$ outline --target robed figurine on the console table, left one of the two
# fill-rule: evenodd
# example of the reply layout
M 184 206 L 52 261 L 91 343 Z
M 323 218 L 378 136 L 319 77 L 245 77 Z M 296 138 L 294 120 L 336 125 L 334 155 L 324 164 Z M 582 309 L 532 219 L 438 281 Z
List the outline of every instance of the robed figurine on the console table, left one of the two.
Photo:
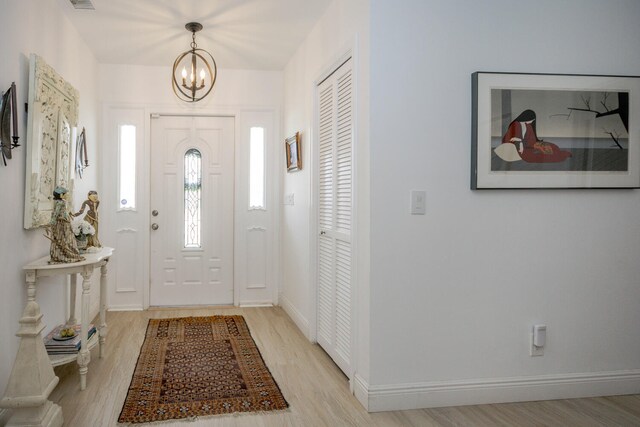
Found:
M 80 256 L 76 237 L 71 229 L 71 216 L 67 210 L 68 191 L 64 187 L 53 190 L 53 211 L 51 221 L 47 225 L 45 236 L 51 240 L 49 264 L 71 263 L 83 261 Z

